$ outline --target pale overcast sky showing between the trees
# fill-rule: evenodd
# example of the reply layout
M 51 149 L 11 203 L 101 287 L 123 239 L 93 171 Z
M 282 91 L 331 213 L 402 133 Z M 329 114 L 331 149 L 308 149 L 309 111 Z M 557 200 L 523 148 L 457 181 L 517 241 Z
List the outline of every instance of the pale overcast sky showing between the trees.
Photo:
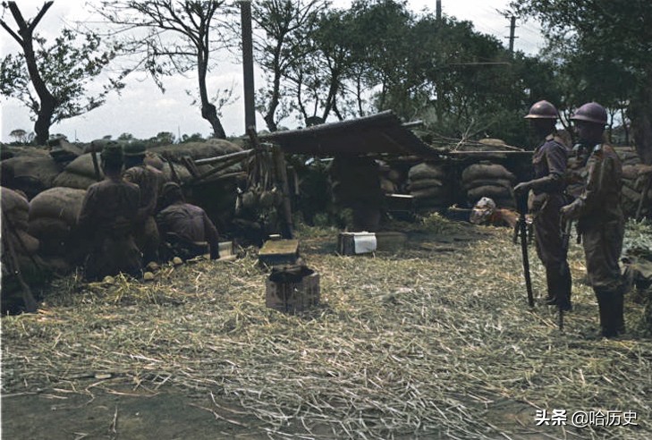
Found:
M 92 0 L 91 0 L 92 1 Z M 255 0 L 254 0 L 255 1 Z M 43 1 L 21 0 L 18 2 L 23 16 L 31 18 L 36 15 Z M 38 26 L 40 33 L 52 39 L 56 32 L 64 25 L 72 26 L 74 21 L 89 20 L 88 9 L 82 0 L 56 0 L 55 4 L 46 13 Z M 336 0 L 334 5 L 345 7 L 351 4 L 347 0 Z M 442 0 L 442 11 L 445 15 L 453 16 L 458 20 L 472 21 L 476 30 L 494 35 L 504 41 L 507 46 L 509 36 L 509 21 L 496 10 L 507 9 L 509 0 Z M 436 0 L 409 0 L 408 6 L 414 12 L 424 8 L 435 11 Z M 5 14 L 4 20 L 13 24 L 12 17 Z M 517 21 L 514 47 L 526 54 L 536 54 L 542 46 L 543 39 L 538 32 L 536 23 Z M 17 52 L 18 43 L 9 37 L 6 31 L 0 29 L 0 55 Z M 244 132 L 244 107 L 242 104 L 242 68 L 233 63 L 220 63 L 219 72 L 209 73 L 207 87 L 209 96 L 211 90 L 230 88 L 233 85 L 238 101 L 232 106 L 223 109 L 222 124 L 226 134 L 240 135 Z M 160 131 L 171 131 L 174 135 L 192 134 L 199 132 L 203 136 L 211 133 L 210 125 L 201 118 L 199 107 L 191 106 L 192 98 L 186 90 L 197 89 L 197 80 L 194 76 L 183 78 L 177 76 L 165 79 L 165 94 L 155 86 L 154 82 L 142 73 L 131 75 L 126 81 L 127 86 L 118 96 L 112 93 L 106 99 L 106 104 L 88 114 L 64 120 L 51 127 L 50 133 L 63 133 L 69 140 L 90 140 L 101 138 L 107 134 L 114 138 L 121 133 L 128 132 L 136 138 L 148 139 L 156 136 Z M 256 88 L 260 84 L 256 85 Z M 34 123 L 30 121 L 27 109 L 14 99 L 0 97 L 0 126 L 2 127 L 1 140 L 13 140 L 9 133 L 15 129 L 33 131 Z M 265 128 L 265 123 L 260 115 L 258 130 Z M 290 125 L 291 121 L 283 123 Z

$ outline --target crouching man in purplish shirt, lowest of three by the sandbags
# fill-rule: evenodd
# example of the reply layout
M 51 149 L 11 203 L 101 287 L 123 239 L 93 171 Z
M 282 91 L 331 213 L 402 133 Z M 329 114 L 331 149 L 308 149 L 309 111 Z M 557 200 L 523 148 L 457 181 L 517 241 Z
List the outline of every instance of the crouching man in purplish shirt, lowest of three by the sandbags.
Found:
M 157 215 L 157 225 L 164 241 L 165 258 L 187 259 L 206 253 L 210 253 L 211 259 L 220 258 L 215 224 L 201 207 L 185 202 L 177 183 L 165 183 L 161 191 L 161 206 L 163 209 Z

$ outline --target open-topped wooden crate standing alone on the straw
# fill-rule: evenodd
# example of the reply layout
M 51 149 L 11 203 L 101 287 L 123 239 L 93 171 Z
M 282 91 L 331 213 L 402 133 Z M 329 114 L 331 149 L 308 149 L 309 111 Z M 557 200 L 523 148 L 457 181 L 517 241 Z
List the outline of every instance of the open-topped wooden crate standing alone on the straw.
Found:
M 300 283 L 275 283 L 267 277 L 266 300 L 268 308 L 294 313 L 319 303 L 319 274 L 304 276 Z

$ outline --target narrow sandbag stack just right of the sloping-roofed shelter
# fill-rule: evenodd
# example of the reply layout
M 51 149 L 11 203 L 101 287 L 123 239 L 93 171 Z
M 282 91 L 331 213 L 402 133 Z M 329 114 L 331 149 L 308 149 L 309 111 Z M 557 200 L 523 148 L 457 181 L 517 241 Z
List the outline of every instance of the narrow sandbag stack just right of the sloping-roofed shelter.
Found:
M 418 214 L 443 212 L 451 205 L 451 186 L 446 165 L 414 165 L 408 172 L 408 186 Z

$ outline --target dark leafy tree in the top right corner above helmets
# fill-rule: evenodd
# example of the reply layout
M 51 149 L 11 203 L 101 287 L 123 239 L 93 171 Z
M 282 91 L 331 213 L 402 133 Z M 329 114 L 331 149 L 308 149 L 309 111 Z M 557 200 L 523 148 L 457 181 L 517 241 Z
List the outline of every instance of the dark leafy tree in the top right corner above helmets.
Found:
M 574 75 L 576 106 L 626 107 L 639 157 L 652 164 L 652 9 L 645 0 L 524 0 L 541 21 L 548 54 Z

